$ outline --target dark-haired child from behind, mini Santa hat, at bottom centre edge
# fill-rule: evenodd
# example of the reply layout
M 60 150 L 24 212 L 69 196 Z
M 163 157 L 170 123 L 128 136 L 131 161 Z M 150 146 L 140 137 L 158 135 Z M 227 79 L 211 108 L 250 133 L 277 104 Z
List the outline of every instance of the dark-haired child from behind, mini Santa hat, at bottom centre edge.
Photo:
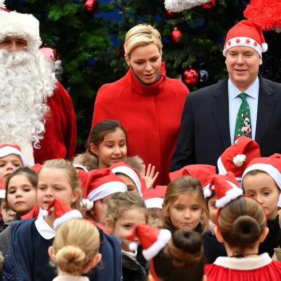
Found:
M 139 239 L 142 254 L 150 261 L 149 281 L 206 281 L 200 234 L 183 229 L 171 234 L 167 229 L 137 225 L 127 237 L 132 241 L 131 248 L 135 246 L 133 241 Z

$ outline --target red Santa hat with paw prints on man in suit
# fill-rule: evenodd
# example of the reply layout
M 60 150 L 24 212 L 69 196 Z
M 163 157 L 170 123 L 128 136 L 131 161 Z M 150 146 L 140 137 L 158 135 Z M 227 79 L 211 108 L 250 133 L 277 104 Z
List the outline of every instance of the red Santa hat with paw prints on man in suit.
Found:
M 246 46 L 255 49 L 260 57 L 267 51 L 267 44 L 262 32 L 262 26 L 251 20 L 241 20 L 226 35 L 223 55 L 226 57 L 228 49 Z

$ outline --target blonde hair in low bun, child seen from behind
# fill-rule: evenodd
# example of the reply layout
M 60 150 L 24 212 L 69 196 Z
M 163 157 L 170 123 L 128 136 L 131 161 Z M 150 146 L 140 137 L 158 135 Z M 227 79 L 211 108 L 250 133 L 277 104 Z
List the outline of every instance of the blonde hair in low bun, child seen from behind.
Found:
M 57 230 L 53 241 L 56 264 L 64 272 L 81 274 L 99 250 L 99 232 L 85 219 L 71 219 Z

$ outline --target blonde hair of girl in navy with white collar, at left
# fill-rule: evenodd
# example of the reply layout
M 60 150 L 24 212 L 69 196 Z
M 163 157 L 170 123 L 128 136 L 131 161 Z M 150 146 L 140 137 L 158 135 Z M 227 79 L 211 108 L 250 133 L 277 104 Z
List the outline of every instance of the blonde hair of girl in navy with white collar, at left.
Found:
M 75 202 L 71 203 L 71 207 L 73 209 L 79 210 L 82 214 L 84 214 L 83 209 L 81 208 L 80 202 L 82 201 L 82 189 L 80 186 L 80 179 L 76 169 L 73 167 L 71 162 L 64 159 L 52 159 L 47 160 L 44 165 L 41 167 L 40 171 L 38 172 L 38 178 L 40 176 L 40 172 L 47 169 L 59 169 L 62 170 L 65 174 L 67 174 L 69 178 L 69 184 L 71 186 L 72 191 L 78 190 L 79 195 Z

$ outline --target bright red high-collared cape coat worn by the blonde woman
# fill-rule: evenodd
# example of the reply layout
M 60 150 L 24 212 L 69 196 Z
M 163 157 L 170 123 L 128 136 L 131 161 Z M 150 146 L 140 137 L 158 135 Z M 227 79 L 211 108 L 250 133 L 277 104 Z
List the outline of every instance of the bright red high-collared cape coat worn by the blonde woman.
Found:
M 180 80 L 166 77 L 164 62 L 159 79 L 149 86 L 130 68 L 125 77 L 99 89 L 92 128 L 106 119 L 120 122 L 128 136 L 127 155 L 139 155 L 146 165 L 155 165 L 159 172 L 155 185 L 167 185 L 188 93 Z

